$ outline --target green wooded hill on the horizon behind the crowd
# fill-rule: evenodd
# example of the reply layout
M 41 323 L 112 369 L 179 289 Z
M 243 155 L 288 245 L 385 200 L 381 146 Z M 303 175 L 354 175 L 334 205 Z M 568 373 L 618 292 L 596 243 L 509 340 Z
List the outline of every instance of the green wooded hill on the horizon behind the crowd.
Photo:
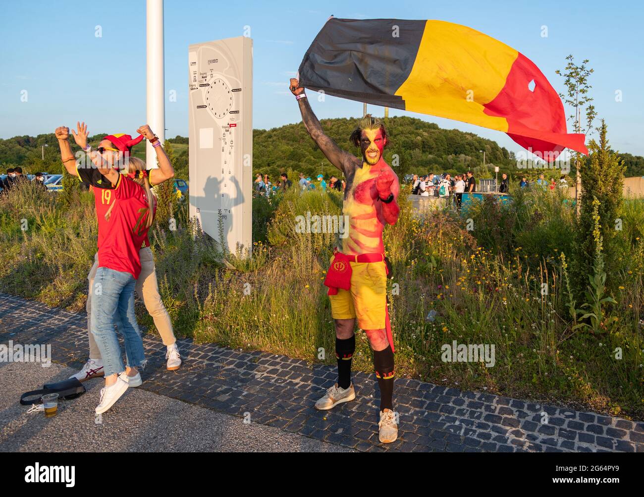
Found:
M 333 138 L 343 149 L 355 153 L 358 150 L 350 144 L 348 138 L 359 123 L 358 118 L 323 119 L 322 127 L 328 136 Z M 526 173 L 526 170 L 516 169 L 513 153 L 497 142 L 481 138 L 474 133 L 464 133 L 457 129 L 441 129 L 437 124 L 426 122 L 413 117 L 390 117 L 385 122 L 390 142 L 385 149 L 385 160 L 396 164 L 396 173 L 400 178 L 404 174 L 462 173 L 468 169 L 478 173 L 478 177 L 491 177 L 493 167 L 498 165 L 500 171 L 512 176 Z M 107 133 L 99 133 L 90 137 L 90 143 L 98 144 L 100 138 Z M 188 179 L 188 139 L 176 136 L 168 140 L 173 144 L 175 155 L 176 176 Z M 44 147 L 44 161 L 41 158 Z M 483 169 L 483 154 L 486 151 L 486 167 Z M 134 149 L 134 154 L 145 157 L 144 144 Z M 626 165 L 625 176 L 644 175 L 644 157 L 621 154 Z M 57 173 L 61 167 L 57 140 L 53 133 L 38 136 L 14 136 L 0 140 L 0 167 L 21 165 L 30 173 L 48 171 Z M 287 171 L 289 178 L 297 178 L 299 172 L 314 178 L 324 174 L 328 178 L 337 175 L 337 169 L 324 157 L 322 152 L 308 136 L 304 125 L 287 124 L 272 129 L 253 130 L 253 172 L 269 174 L 276 182 L 279 173 Z

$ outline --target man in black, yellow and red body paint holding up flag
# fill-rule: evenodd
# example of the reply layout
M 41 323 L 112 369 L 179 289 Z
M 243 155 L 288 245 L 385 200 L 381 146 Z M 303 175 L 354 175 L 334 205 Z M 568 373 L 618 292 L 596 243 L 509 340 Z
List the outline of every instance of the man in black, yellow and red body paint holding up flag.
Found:
M 348 234 L 339 238 L 325 279 L 336 328 L 337 383 L 316 402 L 317 409 L 355 399 L 351 359 L 355 350 L 355 321 L 365 330 L 374 351 L 375 376 L 380 388 L 379 438 L 384 444 L 398 436 L 393 412 L 393 338 L 387 311 L 387 274 L 383 228 L 398 220 L 398 178 L 384 162 L 388 136 L 381 120 L 367 115 L 350 140 L 361 158 L 341 150 L 324 134 L 298 80 L 290 80 L 308 134 L 329 162 L 345 175 L 342 212 L 348 216 Z

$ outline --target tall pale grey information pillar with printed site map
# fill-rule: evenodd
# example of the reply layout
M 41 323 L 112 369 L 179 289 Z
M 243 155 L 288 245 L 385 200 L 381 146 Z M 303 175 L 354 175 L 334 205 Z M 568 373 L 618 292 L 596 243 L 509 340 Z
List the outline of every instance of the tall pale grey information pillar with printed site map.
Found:
M 227 250 L 250 255 L 252 40 L 190 45 L 188 76 L 190 216 Z

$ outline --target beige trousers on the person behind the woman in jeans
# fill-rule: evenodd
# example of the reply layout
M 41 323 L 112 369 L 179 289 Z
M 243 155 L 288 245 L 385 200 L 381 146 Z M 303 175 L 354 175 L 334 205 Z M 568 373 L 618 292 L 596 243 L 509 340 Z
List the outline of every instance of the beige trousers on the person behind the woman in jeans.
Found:
M 159 286 L 156 281 L 155 259 L 152 256 L 152 250 L 149 247 L 141 249 L 138 252 L 141 259 L 141 274 L 137 279 L 137 294 L 143 299 L 147 312 L 155 321 L 156 329 L 161 335 L 164 345 L 172 345 L 176 342 L 175 333 L 172 330 L 172 322 L 167 314 L 166 306 L 161 301 L 159 295 Z M 100 359 L 99 347 L 91 333 L 91 288 L 94 286 L 94 276 L 99 268 L 99 254 L 94 256 L 94 265 L 91 267 L 87 279 L 90 280 L 90 291 L 87 293 L 87 330 L 90 335 L 90 359 Z

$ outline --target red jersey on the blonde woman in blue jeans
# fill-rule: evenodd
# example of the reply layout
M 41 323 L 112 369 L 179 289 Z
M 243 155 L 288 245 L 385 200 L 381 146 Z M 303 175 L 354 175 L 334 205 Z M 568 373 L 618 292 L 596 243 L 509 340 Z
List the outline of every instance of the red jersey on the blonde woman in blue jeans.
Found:
M 116 203 L 109 221 L 99 214 L 99 267 L 128 272 L 137 279 L 141 272 L 138 251 L 147 239 L 146 223 L 150 215 L 146 191 L 122 174 L 118 175 L 113 189 L 102 191 L 110 192 L 114 196 L 112 202 Z M 99 196 L 100 190 L 96 195 L 97 205 Z

